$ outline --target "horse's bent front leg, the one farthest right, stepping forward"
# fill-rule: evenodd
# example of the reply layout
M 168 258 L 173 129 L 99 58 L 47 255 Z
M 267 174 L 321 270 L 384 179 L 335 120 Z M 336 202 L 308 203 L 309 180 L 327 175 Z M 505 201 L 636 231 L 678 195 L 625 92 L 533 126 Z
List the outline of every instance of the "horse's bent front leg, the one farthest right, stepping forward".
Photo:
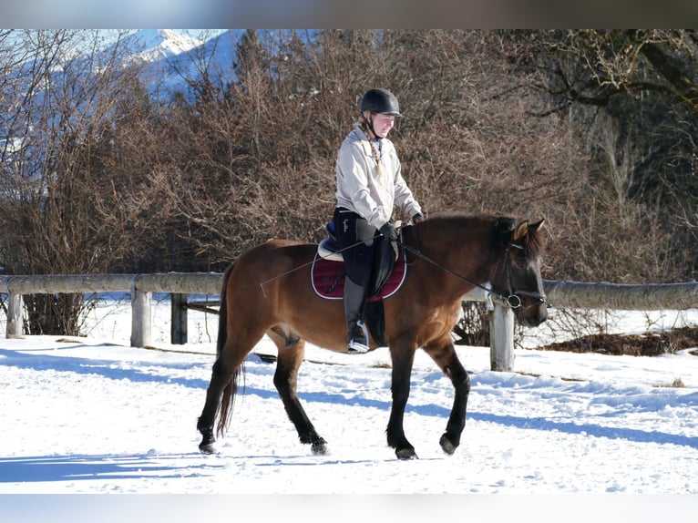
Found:
M 460 436 L 466 427 L 467 396 L 470 394 L 470 378 L 466 369 L 458 360 L 450 333 L 447 338 L 428 344 L 424 350 L 436 362 L 453 384 L 455 397 L 451 415 L 448 416 L 446 432 L 441 436 L 439 444 L 444 452 L 453 454 L 460 445 Z

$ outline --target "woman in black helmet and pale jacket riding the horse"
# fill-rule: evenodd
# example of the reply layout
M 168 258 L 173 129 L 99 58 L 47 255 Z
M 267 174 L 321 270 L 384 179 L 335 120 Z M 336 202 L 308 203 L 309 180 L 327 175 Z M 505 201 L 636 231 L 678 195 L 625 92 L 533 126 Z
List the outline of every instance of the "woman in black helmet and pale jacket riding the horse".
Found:
M 353 354 L 369 348 L 364 301 L 378 232 L 386 240 L 397 240 L 390 221 L 395 206 L 415 223 L 424 219 L 402 176 L 393 142 L 386 138 L 395 118 L 402 117 L 397 98 L 386 89 L 370 89 L 361 99 L 360 110 L 337 155 L 333 217 L 337 241 L 344 249 L 344 319 L 347 350 Z

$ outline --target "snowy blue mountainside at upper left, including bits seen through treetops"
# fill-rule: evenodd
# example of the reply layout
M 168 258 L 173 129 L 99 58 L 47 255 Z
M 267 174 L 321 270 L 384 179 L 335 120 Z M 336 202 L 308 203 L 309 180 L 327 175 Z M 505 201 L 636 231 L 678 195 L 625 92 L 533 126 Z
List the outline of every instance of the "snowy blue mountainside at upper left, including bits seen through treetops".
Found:
M 76 83 L 77 78 L 83 77 L 84 85 L 80 88 L 89 88 L 98 79 L 100 71 L 104 71 L 106 67 L 113 67 L 114 56 L 121 56 L 119 59 L 124 63 L 138 61 L 143 66 L 141 81 L 154 100 L 167 102 L 175 96 L 183 95 L 191 103 L 199 95 L 196 88 L 201 85 L 200 79 L 204 75 L 207 83 L 221 90 L 225 89 L 236 81 L 234 65 L 237 61 L 237 47 L 245 32 L 244 29 L 222 32 L 172 29 L 126 32 L 104 30 L 103 41 L 108 42 L 108 45 L 100 46 L 101 50 L 97 56 L 94 54 L 95 47 L 91 45 L 93 41 L 86 35 L 87 45 L 83 48 L 85 54 L 82 54 L 79 47 L 61 49 L 65 56 L 56 60 L 51 67 L 50 78 L 46 77 L 40 84 L 34 82 L 36 71 L 42 67 L 41 58 L 35 61 L 32 56 L 26 61 L 20 60 L 18 67 L 8 73 L 10 77 L 15 77 L 15 80 L 7 85 L 12 85 L 12 97 L 16 99 L 22 99 L 19 93 L 31 89 L 33 103 L 17 104 L 19 109 L 13 118 L 0 118 L 0 149 L 10 152 L 21 149 L 24 143 L 23 129 L 26 129 L 23 118 L 43 118 L 38 112 L 29 109 L 43 105 L 48 94 L 46 87 L 50 86 L 54 94 L 66 88 L 67 93 L 72 92 L 75 95 L 66 100 L 69 102 L 67 107 L 77 104 L 80 106 L 77 107 L 77 112 L 87 114 L 87 111 L 91 110 L 89 97 L 82 99 L 79 92 L 72 87 L 67 88 L 67 82 Z M 307 32 L 304 32 L 302 37 L 305 36 Z M 283 37 L 281 32 L 261 32 L 260 42 L 269 46 L 273 52 L 274 47 L 279 45 L 279 39 Z M 77 41 L 79 43 L 79 38 Z M 100 54 L 103 54 L 103 59 Z M 26 114 L 24 108 L 27 109 Z M 56 115 L 56 118 L 63 118 L 63 115 Z

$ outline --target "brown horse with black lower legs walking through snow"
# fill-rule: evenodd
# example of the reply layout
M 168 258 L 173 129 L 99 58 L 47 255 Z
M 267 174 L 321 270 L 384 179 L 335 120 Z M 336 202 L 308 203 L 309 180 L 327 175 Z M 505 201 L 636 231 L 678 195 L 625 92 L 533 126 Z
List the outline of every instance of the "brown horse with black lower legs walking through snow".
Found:
M 540 275 L 543 221 L 444 212 L 403 228 L 399 242 L 409 254 L 408 270 L 400 288 L 381 302 L 383 341 L 392 363 L 392 405 L 385 432 L 387 445 L 399 459 L 417 457 L 405 436 L 403 417 L 419 348 L 454 388 L 439 444 L 447 455 L 460 445 L 470 380 L 451 333 L 467 292 L 487 289 L 492 299 L 511 307 L 525 327 L 547 319 Z M 265 334 L 278 349 L 273 384 L 301 443 L 309 444 L 313 455 L 328 453 L 327 442 L 305 414 L 296 392 L 306 342 L 335 352 L 347 350 L 342 301 L 329 301 L 313 291 L 310 266 L 317 247 L 301 241 L 266 241 L 243 252 L 223 273 L 217 355 L 197 422 L 202 453 L 217 452 L 216 436 L 224 436 L 229 428 L 244 359 Z M 370 334 L 370 350 L 377 346 Z

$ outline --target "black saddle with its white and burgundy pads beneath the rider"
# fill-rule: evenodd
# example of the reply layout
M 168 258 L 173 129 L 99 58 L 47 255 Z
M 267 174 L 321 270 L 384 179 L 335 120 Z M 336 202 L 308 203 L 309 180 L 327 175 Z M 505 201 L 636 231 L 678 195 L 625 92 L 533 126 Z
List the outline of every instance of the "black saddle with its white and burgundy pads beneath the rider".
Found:
M 334 236 L 334 223 L 326 226 L 328 237 L 317 247 L 311 268 L 313 289 L 328 300 L 344 297 L 344 258 Z M 390 241 L 376 239 L 374 272 L 368 285 L 366 302 L 378 302 L 392 296 L 405 281 L 405 251 L 398 242 L 397 256 Z

